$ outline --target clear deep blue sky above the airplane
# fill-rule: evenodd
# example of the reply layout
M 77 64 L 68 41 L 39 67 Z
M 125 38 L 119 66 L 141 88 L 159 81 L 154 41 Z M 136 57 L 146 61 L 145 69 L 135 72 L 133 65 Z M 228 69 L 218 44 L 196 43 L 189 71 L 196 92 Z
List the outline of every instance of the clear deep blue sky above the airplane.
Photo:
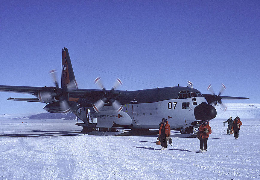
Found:
M 0 85 L 54 86 L 48 72 L 61 79 L 63 47 L 79 88 L 98 88 L 97 76 L 107 89 L 119 77 L 118 90 L 189 80 L 203 94 L 223 83 L 223 95 L 250 98 L 225 103 L 260 103 L 257 0 L 1 1 Z M 9 97 L 34 98 L 0 92 L 0 114 L 45 112 Z

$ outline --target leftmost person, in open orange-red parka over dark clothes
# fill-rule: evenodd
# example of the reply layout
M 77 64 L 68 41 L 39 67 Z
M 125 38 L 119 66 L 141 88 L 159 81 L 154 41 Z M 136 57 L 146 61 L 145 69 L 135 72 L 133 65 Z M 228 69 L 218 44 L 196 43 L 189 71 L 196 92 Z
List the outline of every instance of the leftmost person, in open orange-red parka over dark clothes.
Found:
M 170 135 L 171 135 L 170 125 L 168 124 L 167 119 L 164 119 L 159 129 L 159 137 L 161 138 L 161 146 L 162 146 L 161 150 L 167 150 L 166 137 L 170 138 Z

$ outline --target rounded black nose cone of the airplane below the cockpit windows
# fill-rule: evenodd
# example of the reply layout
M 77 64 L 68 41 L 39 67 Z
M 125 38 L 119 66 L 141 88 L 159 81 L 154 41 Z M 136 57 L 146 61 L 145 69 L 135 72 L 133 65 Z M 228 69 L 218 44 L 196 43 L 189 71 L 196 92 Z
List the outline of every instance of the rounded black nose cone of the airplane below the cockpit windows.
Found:
M 209 121 L 217 116 L 217 111 L 212 105 L 201 103 L 194 108 L 194 116 L 197 121 Z

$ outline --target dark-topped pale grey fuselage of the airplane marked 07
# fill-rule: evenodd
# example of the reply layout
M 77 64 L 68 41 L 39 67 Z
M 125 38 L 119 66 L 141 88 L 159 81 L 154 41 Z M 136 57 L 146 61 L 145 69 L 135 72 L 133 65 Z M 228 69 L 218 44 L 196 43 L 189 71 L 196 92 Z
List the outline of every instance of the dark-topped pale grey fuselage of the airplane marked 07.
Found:
M 215 108 L 207 104 L 200 91 L 194 88 L 166 87 L 116 92 L 120 94 L 117 100 L 123 105 L 120 113 L 117 114 L 110 103 L 97 113 L 91 104 L 84 104 L 86 101 L 81 99 L 77 101 L 80 108 L 74 114 L 92 127 L 119 128 L 121 125 L 132 129 L 158 129 L 162 118 L 168 120 L 172 129 L 178 129 L 192 126 L 193 122 L 211 120 L 216 116 Z M 200 104 L 205 104 L 210 111 L 214 109 L 213 112 L 205 110 L 209 115 L 206 119 L 194 114 L 194 109 Z

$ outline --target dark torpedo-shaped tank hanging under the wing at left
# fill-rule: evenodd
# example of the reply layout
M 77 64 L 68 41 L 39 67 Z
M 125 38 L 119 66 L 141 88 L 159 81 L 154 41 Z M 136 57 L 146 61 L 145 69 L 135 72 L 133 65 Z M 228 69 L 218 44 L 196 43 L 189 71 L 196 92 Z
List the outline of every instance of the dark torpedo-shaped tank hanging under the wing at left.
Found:
M 80 107 L 80 105 L 74 101 L 68 101 L 68 104 L 71 108 L 71 110 L 68 113 L 77 111 L 78 108 Z M 60 107 L 60 103 L 47 104 L 43 109 L 48 111 L 49 113 L 63 113 L 63 110 Z

